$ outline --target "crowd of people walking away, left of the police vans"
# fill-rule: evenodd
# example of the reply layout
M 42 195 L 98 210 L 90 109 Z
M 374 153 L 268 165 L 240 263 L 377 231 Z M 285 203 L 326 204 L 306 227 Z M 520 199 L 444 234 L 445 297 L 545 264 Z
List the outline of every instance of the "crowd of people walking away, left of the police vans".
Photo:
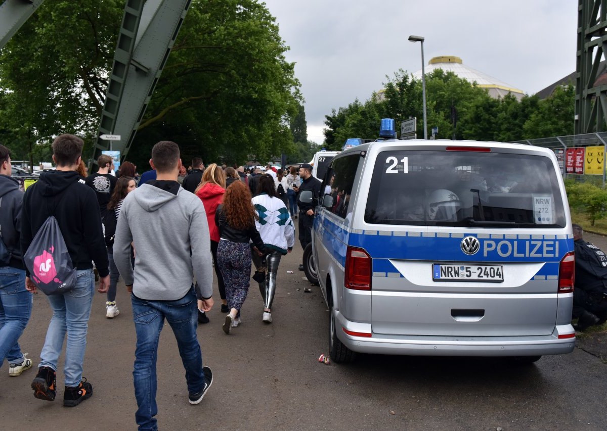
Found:
M 10 151 L 0 145 L 0 365 L 7 359 L 10 376 L 33 367 L 18 340 L 32 312 L 32 294 L 39 290 L 39 273 L 30 271 L 24 256 L 49 219 L 54 220 L 70 261 L 57 273 L 72 270 L 75 282 L 47 295 L 53 314 L 31 384 L 34 396 L 55 399 L 66 335 L 63 405 L 77 406 L 92 396 L 83 362 L 95 280 L 98 292 L 107 295 L 106 317 L 113 319 L 120 315 L 116 296 L 121 277 L 131 294 L 137 335 L 135 420 L 139 429 L 157 429 L 157 340 L 164 321 L 177 340 L 189 403 L 200 403 L 212 384 L 196 327 L 209 322 L 213 272 L 221 312 L 226 313 L 223 332 L 231 333 L 242 322 L 253 264 L 260 318 L 265 324 L 273 321 L 280 258 L 295 242 L 299 176 L 295 169 L 285 175 L 270 165 L 265 172 L 258 168 L 251 173 L 217 164 L 205 168 L 200 158 L 192 159 L 186 170 L 171 141 L 154 145 L 152 169 L 140 177 L 131 162 L 116 172 L 106 155 L 97 159 L 98 172 L 87 175 L 82 139 L 61 135 L 52 149 L 56 169 L 42 172 L 23 193 L 10 176 Z M 53 249 L 35 261 L 40 271 L 54 271 L 63 262 Z M 40 261 L 42 256 L 50 258 Z

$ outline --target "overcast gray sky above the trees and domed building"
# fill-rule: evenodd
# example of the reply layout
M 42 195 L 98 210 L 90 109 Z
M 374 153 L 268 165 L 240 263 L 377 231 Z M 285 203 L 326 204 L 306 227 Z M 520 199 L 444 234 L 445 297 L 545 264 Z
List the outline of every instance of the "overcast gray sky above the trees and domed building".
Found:
M 365 101 L 399 68 L 455 55 L 532 95 L 575 71 L 575 0 L 265 0 L 291 47 L 302 84 L 308 139 L 324 140 L 324 116 Z M 379 124 L 378 124 L 379 127 Z

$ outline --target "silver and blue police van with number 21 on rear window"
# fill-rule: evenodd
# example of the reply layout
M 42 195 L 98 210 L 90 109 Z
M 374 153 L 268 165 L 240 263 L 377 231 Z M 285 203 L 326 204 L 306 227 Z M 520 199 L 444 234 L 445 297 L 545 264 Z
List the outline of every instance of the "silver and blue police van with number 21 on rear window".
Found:
M 333 361 L 572 352 L 573 235 L 551 150 L 386 139 L 334 156 L 325 185 L 312 253 Z

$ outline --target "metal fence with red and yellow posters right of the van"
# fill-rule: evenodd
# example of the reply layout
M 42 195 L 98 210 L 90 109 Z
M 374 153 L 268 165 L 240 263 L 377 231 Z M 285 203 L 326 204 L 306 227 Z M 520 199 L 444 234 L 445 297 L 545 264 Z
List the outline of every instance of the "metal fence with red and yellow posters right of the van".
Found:
M 593 182 L 605 186 L 607 132 L 524 139 L 514 141 L 514 143 L 549 148 L 557 156 L 564 178 L 574 178 L 576 181 Z

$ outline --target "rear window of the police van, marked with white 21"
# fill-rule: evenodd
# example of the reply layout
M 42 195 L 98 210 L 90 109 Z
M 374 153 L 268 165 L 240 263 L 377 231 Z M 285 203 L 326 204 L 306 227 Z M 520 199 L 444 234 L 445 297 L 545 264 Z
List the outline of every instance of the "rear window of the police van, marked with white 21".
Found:
M 375 162 L 365 222 L 565 227 L 565 209 L 548 157 L 385 151 Z

